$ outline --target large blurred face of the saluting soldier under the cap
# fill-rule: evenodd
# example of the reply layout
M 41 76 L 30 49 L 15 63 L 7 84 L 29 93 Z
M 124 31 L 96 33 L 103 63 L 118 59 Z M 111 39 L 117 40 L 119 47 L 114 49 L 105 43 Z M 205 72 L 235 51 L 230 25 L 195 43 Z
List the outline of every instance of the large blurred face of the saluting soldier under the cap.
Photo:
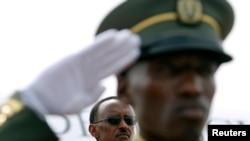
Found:
M 119 78 L 118 93 L 133 105 L 143 137 L 193 141 L 209 114 L 217 67 L 194 53 L 154 57 Z

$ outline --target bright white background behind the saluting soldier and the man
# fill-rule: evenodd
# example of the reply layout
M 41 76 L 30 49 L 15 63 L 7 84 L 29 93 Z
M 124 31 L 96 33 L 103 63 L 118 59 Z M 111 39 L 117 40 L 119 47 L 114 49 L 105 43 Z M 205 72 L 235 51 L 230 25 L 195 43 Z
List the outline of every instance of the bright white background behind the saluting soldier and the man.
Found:
M 102 18 L 123 1 L 0 0 L 0 103 L 50 65 L 91 43 Z M 208 122 L 250 124 L 250 1 L 229 2 L 236 19 L 224 47 L 234 60 L 216 75 L 218 88 Z M 103 85 L 106 91 L 100 98 L 115 95 L 114 76 Z M 88 133 L 88 112 L 86 108 L 79 115 L 46 119 L 62 141 L 94 141 Z

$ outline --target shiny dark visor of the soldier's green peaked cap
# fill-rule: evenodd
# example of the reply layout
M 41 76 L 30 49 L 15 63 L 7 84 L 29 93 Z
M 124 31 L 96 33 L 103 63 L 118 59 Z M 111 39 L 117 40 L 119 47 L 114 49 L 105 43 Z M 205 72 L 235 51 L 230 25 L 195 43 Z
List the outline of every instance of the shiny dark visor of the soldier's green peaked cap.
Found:
M 190 35 L 162 38 L 145 43 L 141 47 L 140 59 L 160 54 L 183 51 L 199 51 L 208 54 L 218 63 L 224 63 L 232 60 L 232 57 L 223 51 L 220 41 Z

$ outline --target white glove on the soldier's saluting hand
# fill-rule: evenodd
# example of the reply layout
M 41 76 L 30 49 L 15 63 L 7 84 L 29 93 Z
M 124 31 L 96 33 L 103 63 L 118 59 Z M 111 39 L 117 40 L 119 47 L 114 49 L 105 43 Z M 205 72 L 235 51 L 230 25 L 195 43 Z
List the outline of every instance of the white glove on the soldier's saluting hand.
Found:
M 140 38 L 129 30 L 108 30 L 86 49 L 43 72 L 21 91 L 39 114 L 76 114 L 104 91 L 100 80 L 120 72 L 139 56 Z

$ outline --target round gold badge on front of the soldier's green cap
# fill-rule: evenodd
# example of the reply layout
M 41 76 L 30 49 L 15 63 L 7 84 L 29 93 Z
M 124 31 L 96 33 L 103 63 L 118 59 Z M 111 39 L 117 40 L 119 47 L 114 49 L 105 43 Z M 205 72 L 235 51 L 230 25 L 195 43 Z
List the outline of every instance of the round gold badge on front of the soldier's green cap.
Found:
M 177 13 L 181 22 L 186 24 L 198 23 L 202 18 L 200 0 L 178 0 Z

